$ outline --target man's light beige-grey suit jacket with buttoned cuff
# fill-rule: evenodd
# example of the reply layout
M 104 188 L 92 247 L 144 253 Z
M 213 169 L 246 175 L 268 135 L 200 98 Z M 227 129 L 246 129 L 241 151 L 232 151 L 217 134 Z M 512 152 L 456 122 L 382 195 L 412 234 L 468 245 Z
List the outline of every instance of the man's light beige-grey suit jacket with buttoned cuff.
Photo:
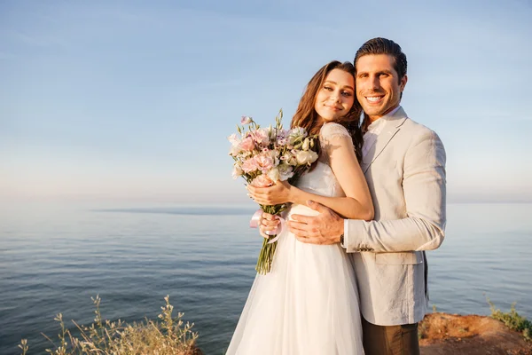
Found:
M 364 319 L 380 326 L 423 319 L 426 255 L 445 229 L 442 140 L 400 107 L 361 164 L 372 193 L 373 221 L 347 220 L 344 246 L 356 269 Z

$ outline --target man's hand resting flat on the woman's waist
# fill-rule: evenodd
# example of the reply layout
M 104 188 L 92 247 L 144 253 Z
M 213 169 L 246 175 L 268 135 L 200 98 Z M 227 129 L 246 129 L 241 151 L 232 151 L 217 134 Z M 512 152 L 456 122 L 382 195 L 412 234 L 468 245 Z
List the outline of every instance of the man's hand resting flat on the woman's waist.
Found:
M 292 215 L 287 225 L 298 241 L 310 244 L 335 244 L 344 232 L 344 219 L 332 209 L 315 201 L 307 201 L 309 208 L 317 210 L 317 216 Z

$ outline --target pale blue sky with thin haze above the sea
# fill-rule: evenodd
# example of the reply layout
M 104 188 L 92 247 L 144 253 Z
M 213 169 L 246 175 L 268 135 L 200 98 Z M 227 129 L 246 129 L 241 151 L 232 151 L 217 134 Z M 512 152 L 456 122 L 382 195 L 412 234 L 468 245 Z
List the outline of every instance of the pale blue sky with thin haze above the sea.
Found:
M 244 203 L 227 137 L 289 124 L 366 40 L 408 58 L 402 106 L 450 202 L 532 201 L 532 3 L 0 1 L 0 201 Z

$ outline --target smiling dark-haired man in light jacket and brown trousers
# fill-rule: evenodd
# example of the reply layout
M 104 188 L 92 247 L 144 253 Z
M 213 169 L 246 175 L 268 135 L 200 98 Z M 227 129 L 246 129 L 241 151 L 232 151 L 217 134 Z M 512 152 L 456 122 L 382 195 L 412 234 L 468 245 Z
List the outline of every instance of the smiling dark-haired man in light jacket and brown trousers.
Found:
M 419 354 L 418 322 L 426 313 L 425 250 L 438 248 L 445 228 L 442 141 L 400 106 L 406 56 L 385 38 L 364 43 L 355 57 L 356 98 L 364 109 L 361 168 L 372 193 L 372 221 L 344 220 L 309 201 L 317 217 L 293 215 L 299 241 L 340 242 L 353 257 L 366 355 Z M 264 215 L 262 231 L 277 221 Z

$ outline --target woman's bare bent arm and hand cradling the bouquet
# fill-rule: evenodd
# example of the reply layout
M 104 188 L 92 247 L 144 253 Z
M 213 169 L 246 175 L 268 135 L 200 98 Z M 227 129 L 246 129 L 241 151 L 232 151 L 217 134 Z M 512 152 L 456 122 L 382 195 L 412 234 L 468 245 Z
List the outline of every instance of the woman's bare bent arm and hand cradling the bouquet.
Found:
M 249 195 L 263 205 L 292 202 L 306 204 L 317 201 L 349 219 L 371 220 L 373 218 L 372 196 L 366 184 L 364 174 L 356 160 L 355 150 L 350 136 L 335 134 L 325 139 L 322 145 L 328 155 L 332 172 L 336 176 L 346 197 L 328 197 L 308 193 L 286 182 L 270 187 L 248 185 Z

